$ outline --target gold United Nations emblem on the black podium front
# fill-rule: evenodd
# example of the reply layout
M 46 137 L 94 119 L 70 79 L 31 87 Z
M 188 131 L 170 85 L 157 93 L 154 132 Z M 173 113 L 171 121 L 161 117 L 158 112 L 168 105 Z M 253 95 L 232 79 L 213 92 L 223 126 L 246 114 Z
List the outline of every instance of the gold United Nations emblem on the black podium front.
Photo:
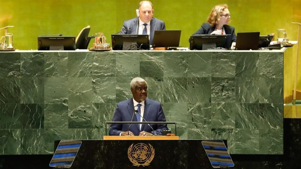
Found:
M 151 164 L 155 157 L 155 149 L 151 144 L 138 143 L 135 146 L 129 146 L 128 157 L 134 166 L 147 166 Z

